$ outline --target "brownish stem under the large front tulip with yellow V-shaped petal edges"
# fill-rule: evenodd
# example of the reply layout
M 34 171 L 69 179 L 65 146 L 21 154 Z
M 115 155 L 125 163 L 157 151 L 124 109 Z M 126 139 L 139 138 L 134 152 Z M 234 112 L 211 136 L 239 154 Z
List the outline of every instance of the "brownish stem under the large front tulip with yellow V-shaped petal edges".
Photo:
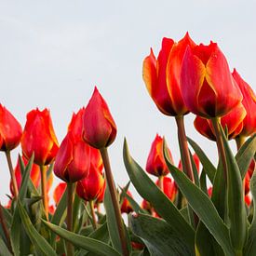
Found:
M 211 120 L 213 129 L 214 129 L 214 133 L 215 133 L 215 137 L 216 137 L 216 141 L 217 141 L 219 157 L 222 159 L 224 179 L 225 179 L 225 182 L 227 182 L 227 162 L 226 162 L 226 155 L 225 155 L 225 151 L 224 151 L 224 145 L 223 145 L 223 141 L 222 141 L 222 134 L 221 134 L 221 129 L 220 129 L 219 118 L 213 117 L 210 120 Z

